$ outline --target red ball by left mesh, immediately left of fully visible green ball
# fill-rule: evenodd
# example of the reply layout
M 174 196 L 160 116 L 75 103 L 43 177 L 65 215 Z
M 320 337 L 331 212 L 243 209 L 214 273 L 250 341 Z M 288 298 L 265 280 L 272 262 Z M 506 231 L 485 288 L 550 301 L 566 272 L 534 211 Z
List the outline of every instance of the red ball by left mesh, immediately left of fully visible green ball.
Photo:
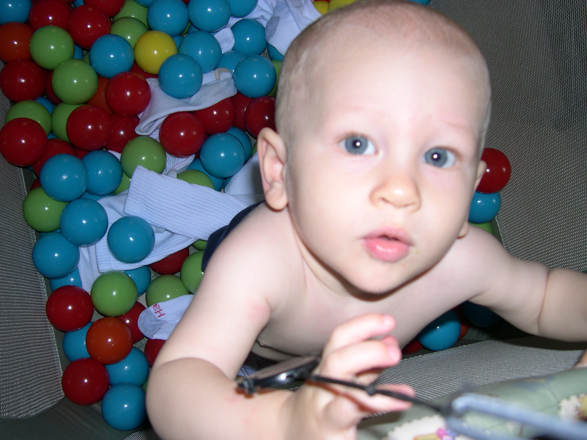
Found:
M 79 330 L 92 320 L 92 298 L 82 287 L 61 286 L 53 290 L 45 304 L 47 319 L 58 330 Z

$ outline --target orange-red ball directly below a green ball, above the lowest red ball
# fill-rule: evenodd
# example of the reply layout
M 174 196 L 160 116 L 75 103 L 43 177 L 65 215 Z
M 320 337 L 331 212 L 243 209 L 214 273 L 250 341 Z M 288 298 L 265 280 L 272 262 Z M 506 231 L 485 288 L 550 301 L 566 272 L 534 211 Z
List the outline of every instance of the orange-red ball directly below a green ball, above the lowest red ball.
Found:
M 87 353 L 101 364 L 115 364 L 129 356 L 133 334 L 129 326 L 112 316 L 100 318 L 86 333 Z

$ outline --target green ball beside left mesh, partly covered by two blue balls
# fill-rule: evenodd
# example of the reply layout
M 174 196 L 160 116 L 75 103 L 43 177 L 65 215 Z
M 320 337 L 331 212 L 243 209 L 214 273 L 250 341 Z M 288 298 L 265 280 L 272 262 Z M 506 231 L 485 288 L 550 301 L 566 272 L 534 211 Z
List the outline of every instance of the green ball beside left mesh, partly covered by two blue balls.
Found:
M 50 198 L 43 188 L 36 187 L 22 202 L 22 215 L 35 231 L 52 232 L 59 229 L 59 217 L 67 204 Z

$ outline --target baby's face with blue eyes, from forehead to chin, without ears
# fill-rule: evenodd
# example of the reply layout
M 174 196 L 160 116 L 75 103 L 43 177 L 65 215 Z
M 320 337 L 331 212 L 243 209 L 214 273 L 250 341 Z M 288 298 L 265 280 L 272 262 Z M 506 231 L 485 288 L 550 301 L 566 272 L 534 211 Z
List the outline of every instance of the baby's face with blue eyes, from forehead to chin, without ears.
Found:
M 362 45 L 308 79 L 285 176 L 318 270 L 388 292 L 466 231 L 487 94 L 472 63 L 442 48 Z

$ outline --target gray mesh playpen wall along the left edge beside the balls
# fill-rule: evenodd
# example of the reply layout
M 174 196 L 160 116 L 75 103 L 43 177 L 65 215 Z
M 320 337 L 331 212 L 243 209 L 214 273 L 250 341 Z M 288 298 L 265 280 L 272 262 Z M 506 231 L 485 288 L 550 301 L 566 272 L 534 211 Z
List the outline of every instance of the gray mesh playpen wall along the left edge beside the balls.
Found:
M 0 126 L 8 108 L 1 94 Z M 63 397 L 45 283 L 31 257 L 35 234 L 22 216 L 25 195 L 22 170 L 0 157 L 0 417 L 30 417 Z

